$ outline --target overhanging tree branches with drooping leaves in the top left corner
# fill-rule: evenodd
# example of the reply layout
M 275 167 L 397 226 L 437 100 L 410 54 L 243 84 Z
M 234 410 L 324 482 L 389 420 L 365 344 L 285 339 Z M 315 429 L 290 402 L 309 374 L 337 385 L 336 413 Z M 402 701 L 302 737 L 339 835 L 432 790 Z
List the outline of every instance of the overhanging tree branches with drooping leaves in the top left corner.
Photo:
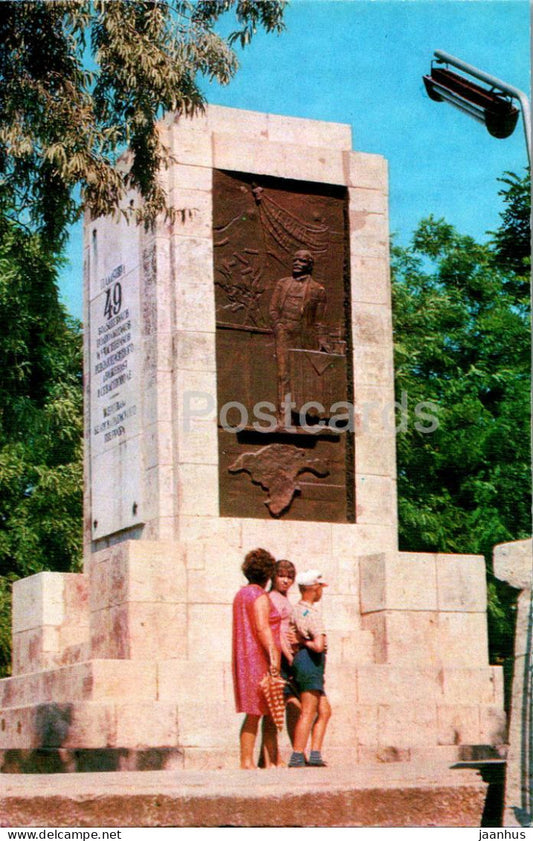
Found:
M 168 211 L 157 120 L 202 109 L 201 79 L 230 81 L 233 45 L 283 28 L 285 0 L 31 0 L 0 15 L 0 209 L 58 248 L 81 209 L 112 213 L 128 188 L 151 224 Z M 215 26 L 233 15 L 223 37 Z M 91 67 L 92 69 L 87 69 Z M 117 155 L 131 149 L 129 170 Z

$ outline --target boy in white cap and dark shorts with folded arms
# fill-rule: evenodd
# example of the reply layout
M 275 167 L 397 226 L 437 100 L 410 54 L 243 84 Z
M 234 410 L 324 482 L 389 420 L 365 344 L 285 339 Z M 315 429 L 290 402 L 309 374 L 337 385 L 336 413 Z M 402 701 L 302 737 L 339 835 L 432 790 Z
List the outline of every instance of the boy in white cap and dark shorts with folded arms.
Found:
M 315 604 L 322 598 L 327 587 L 318 569 L 308 569 L 296 576 L 301 598 L 295 605 L 291 623 L 296 629 L 300 648 L 294 655 L 293 674 L 300 691 L 302 711 L 294 732 L 293 752 L 289 768 L 305 765 L 322 768 L 322 743 L 331 716 L 331 706 L 324 692 L 324 670 L 326 666 L 326 632 L 320 612 Z M 311 735 L 309 760 L 305 748 Z

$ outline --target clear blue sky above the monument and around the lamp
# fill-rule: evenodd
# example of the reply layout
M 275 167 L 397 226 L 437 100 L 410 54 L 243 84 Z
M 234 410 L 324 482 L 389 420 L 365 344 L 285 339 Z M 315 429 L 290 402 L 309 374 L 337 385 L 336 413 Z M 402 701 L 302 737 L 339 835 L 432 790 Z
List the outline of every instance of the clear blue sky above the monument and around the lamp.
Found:
M 435 49 L 529 94 L 528 0 L 292 0 L 286 31 L 259 32 L 227 87 L 208 102 L 349 123 L 353 147 L 389 161 L 390 223 L 406 243 L 432 213 L 486 239 L 502 209 L 497 179 L 527 165 L 520 122 L 506 140 L 425 94 Z M 63 300 L 81 318 L 81 226 L 73 228 Z

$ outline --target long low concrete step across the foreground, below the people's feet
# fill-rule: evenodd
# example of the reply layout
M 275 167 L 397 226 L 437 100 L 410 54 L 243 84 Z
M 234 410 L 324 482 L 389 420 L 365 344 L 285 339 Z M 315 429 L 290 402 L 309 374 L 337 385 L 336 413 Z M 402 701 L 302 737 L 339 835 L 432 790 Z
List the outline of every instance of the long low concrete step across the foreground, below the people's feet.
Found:
M 0 825 L 480 826 L 487 784 L 448 763 L 242 771 L 15 774 Z

